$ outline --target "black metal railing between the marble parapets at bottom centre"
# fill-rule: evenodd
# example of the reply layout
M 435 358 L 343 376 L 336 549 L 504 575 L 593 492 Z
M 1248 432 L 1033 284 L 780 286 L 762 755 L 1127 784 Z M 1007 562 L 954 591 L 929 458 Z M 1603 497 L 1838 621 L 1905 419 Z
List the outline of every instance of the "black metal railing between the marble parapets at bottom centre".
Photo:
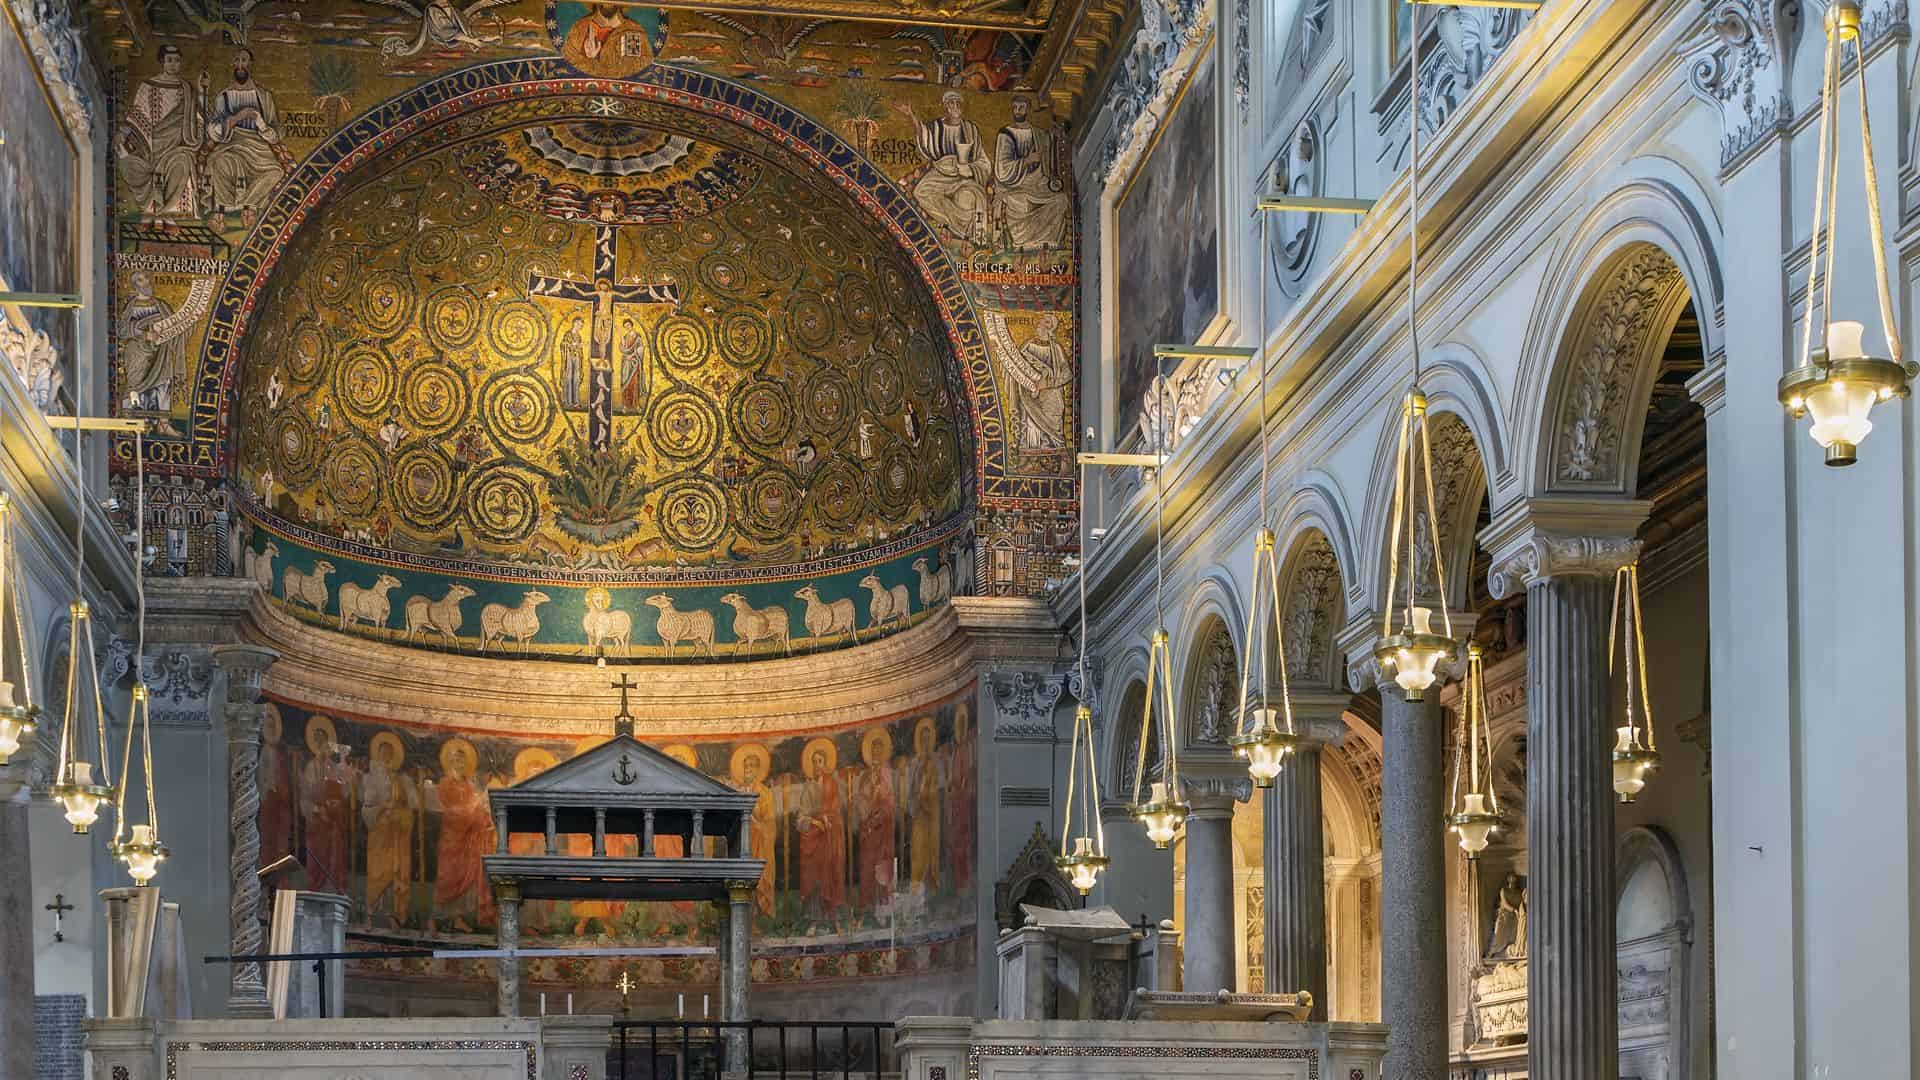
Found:
M 899 1070 L 893 1024 L 877 1020 L 614 1020 L 609 1080 L 716 1080 L 728 1043 L 749 1078 L 879 1080 Z

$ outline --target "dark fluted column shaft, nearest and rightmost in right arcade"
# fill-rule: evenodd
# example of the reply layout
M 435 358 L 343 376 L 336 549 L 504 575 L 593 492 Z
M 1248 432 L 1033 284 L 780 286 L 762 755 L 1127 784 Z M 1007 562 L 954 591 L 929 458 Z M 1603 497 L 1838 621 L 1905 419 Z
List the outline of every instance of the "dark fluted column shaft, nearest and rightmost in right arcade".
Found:
M 1619 1080 L 1607 611 L 1597 575 L 1526 586 L 1526 1070 Z

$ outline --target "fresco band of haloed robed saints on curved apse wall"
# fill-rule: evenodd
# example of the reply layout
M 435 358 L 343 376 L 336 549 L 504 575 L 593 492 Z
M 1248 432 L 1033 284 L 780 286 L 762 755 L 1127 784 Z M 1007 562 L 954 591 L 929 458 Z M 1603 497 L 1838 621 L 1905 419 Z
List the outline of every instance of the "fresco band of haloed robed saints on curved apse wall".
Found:
M 973 688 L 897 717 L 799 734 L 647 736 L 666 755 L 758 803 L 751 849 L 755 984 L 958 972 L 972 980 L 977 801 Z M 605 730 L 507 736 L 269 701 L 261 732 L 261 863 L 296 855 L 309 888 L 351 901 L 349 930 L 411 942 L 492 942 L 495 903 L 482 855 L 497 846 L 488 792 L 607 740 Z M 561 834 L 572 853 L 593 838 Z M 611 855 L 636 853 L 609 836 Z M 538 853 L 545 836 L 513 834 Z M 655 855 L 685 855 L 657 836 Z M 522 940 L 540 945 L 712 944 L 712 905 L 528 901 Z M 528 978 L 611 986 L 703 984 L 716 959 L 530 961 Z M 492 963 L 392 959 L 351 978 L 492 982 Z

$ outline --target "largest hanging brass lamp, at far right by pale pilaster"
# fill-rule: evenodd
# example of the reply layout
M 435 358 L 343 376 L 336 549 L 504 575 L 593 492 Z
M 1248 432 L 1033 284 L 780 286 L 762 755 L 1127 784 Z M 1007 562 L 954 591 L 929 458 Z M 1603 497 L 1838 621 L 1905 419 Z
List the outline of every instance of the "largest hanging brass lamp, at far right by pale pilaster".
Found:
M 1839 208 L 1839 125 L 1834 119 L 1839 98 L 1845 46 L 1853 42 L 1860 73 L 1860 160 L 1866 179 L 1866 225 L 1874 248 L 1874 277 L 1880 286 L 1880 332 L 1889 357 L 1866 352 L 1866 327 L 1834 321 L 1834 219 Z M 1822 234 L 1826 252 L 1822 256 Z M 1807 327 L 1801 336 L 1801 363 L 1780 379 L 1780 404 L 1795 419 L 1811 415 L 1809 434 L 1826 450 L 1826 463 L 1843 467 L 1859 459 L 1860 442 L 1874 430 L 1870 413 L 1889 398 L 1907 398 L 1920 365 L 1901 357 L 1901 332 L 1893 321 L 1893 288 L 1887 277 L 1885 229 L 1880 221 L 1880 175 L 1874 169 L 1874 129 L 1866 110 L 1866 54 L 1860 48 L 1860 6 L 1834 0 L 1826 10 L 1826 75 L 1820 83 L 1820 163 L 1814 179 L 1814 221 L 1807 273 Z M 1822 261 L 1824 258 L 1824 261 Z M 1820 317 L 1814 319 L 1818 306 Z M 1820 327 L 1816 338 L 1814 327 Z M 1818 342 L 1818 344 L 1816 344 Z

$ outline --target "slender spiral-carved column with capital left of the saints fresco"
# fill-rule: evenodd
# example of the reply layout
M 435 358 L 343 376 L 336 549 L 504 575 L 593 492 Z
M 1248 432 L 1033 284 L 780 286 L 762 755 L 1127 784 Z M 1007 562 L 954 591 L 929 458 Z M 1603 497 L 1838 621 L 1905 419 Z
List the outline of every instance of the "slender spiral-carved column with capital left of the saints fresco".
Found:
M 261 678 L 280 653 L 257 646 L 219 646 L 213 663 L 227 673 L 227 930 L 232 955 L 259 953 L 259 726 Z M 271 1017 L 267 980 L 257 961 L 228 965 L 227 1013 Z

